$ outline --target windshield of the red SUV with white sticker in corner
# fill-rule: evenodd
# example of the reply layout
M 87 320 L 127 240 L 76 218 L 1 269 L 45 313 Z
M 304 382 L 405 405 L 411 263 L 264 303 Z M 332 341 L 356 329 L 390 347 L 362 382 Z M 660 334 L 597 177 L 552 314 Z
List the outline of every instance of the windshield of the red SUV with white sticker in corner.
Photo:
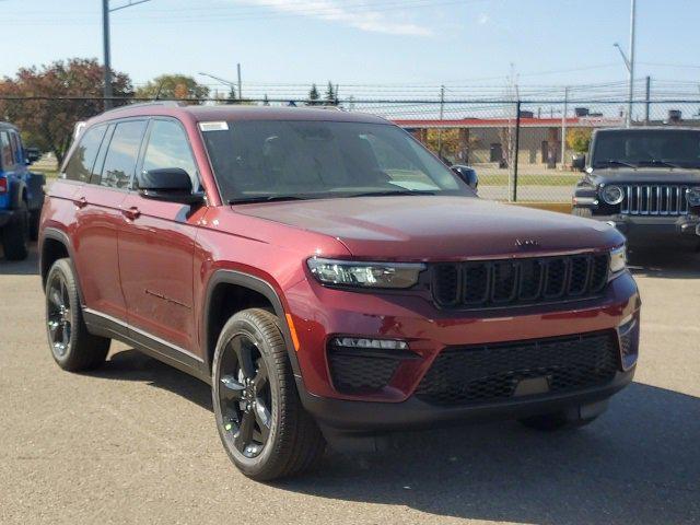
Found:
M 471 190 L 390 125 L 234 120 L 200 126 L 229 202 Z

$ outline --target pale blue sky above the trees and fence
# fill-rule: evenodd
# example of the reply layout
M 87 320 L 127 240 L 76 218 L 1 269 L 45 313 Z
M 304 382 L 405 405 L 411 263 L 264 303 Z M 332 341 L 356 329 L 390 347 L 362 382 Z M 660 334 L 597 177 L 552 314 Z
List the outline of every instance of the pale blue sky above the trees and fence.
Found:
M 113 13 L 113 66 L 139 83 L 163 72 L 233 79 L 241 61 L 250 90 L 328 79 L 348 90 L 504 85 L 511 63 L 521 84 L 616 82 L 627 78 L 612 43 L 627 48 L 629 3 L 151 0 Z M 700 83 L 700 2 L 638 0 L 638 77 Z M 0 0 L 0 75 L 102 57 L 100 0 Z

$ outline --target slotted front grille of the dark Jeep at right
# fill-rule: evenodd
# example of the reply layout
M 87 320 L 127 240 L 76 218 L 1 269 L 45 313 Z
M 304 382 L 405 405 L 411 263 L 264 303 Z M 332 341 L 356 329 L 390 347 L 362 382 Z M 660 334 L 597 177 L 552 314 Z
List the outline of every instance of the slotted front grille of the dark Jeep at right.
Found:
M 627 215 L 687 215 L 687 186 L 633 185 L 622 186 L 620 213 Z

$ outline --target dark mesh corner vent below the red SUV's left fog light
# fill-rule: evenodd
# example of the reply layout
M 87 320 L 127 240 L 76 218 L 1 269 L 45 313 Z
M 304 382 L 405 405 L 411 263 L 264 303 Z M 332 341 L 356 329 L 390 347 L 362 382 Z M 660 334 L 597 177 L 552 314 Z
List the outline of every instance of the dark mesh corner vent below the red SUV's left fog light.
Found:
M 386 386 L 400 361 L 398 359 L 363 355 L 340 347 L 329 347 L 330 377 L 338 392 L 348 394 L 376 392 Z

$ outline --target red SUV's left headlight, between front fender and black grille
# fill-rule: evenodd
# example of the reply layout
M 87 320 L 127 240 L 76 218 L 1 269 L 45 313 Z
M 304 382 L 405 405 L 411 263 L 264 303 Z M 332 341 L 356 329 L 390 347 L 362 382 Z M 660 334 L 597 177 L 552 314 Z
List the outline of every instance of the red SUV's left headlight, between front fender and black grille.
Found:
M 324 284 L 358 288 L 411 288 L 425 265 L 355 262 L 312 257 L 308 269 Z

